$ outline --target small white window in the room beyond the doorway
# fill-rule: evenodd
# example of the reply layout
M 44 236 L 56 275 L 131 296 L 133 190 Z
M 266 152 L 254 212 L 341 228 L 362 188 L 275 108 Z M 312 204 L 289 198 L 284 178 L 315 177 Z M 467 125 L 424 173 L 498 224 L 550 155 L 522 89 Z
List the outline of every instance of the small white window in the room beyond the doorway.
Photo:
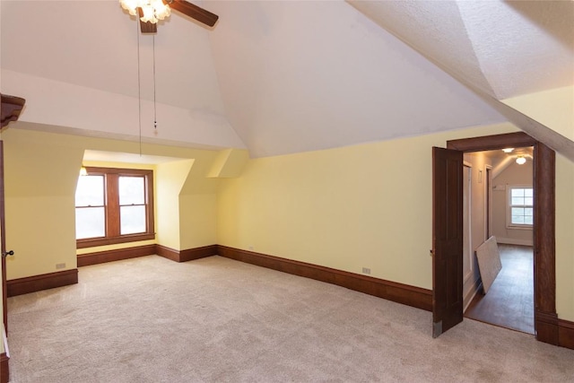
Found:
M 534 223 L 534 190 L 529 185 L 508 187 L 507 226 L 513 229 L 531 228 Z

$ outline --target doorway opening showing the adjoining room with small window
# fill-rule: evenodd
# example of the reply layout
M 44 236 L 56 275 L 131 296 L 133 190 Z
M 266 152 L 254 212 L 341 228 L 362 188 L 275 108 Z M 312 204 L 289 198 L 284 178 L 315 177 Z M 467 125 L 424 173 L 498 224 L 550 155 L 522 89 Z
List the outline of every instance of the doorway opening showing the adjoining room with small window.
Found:
M 488 294 L 480 287 L 478 267 L 475 274 L 464 275 L 464 316 L 534 335 L 533 148 L 465 153 L 464 176 L 467 166 L 472 164 L 467 161 L 479 165 L 475 171 L 478 177 L 471 181 L 477 194 L 484 194 L 484 198 L 472 198 L 471 206 L 474 211 L 485 212 L 474 214 L 471 219 L 466 213 L 468 208 L 463 210 L 464 223 L 470 222 L 470 232 L 475 234 L 470 249 L 471 262 L 476 262 L 473 249 L 492 235 L 498 244 L 502 269 Z M 483 172 L 486 179 L 482 177 Z M 464 248 L 466 264 L 469 263 L 467 254 L 468 249 Z M 473 277 L 471 281 L 469 276 Z

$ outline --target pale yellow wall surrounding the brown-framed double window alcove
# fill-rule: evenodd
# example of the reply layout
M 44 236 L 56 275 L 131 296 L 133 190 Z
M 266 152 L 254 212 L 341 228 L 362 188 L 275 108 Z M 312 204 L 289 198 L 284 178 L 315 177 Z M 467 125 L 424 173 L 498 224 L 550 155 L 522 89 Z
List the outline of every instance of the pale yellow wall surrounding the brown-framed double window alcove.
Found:
M 74 269 L 77 265 L 77 253 L 156 243 L 151 240 L 77 251 L 75 248 L 74 194 L 84 150 L 138 153 L 138 144 L 19 130 L 16 127 L 6 129 L 2 138 L 6 244 L 15 252 L 15 256 L 7 261 L 8 280 Z M 194 167 L 197 165 L 195 172 L 188 170 L 181 175 L 181 184 L 178 187 L 167 187 L 170 193 L 159 193 L 161 197 L 156 204 L 178 202 L 179 194 L 187 182 L 194 185 L 186 191 L 189 198 L 197 197 L 201 200 L 209 198 L 206 195 L 211 193 L 211 199 L 216 200 L 215 185 L 219 180 L 206 176 L 217 152 L 151 144 L 143 144 L 142 151 L 145 154 L 180 159 L 178 161 L 193 161 Z M 156 171 L 156 190 L 164 186 L 162 182 L 165 179 L 171 179 L 170 175 L 164 177 L 163 170 Z M 180 239 L 172 240 L 171 233 L 175 232 L 178 237 L 181 227 L 197 226 L 197 222 L 215 220 L 213 204 L 211 209 L 203 205 L 201 207 L 195 209 L 193 214 L 179 214 L 176 219 L 171 217 L 160 221 L 163 216 L 156 216 L 157 242 L 164 244 L 161 239 L 166 238 L 165 246 L 181 249 Z M 176 212 L 180 208 L 181 206 L 176 206 Z M 169 224 L 162 225 L 166 221 L 169 221 Z M 216 231 L 211 223 L 190 235 L 193 236 L 194 243 L 211 245 L 215 243 Z M 59 263 L 65 263 L 65 268 L 56 269 L 56 264 Z

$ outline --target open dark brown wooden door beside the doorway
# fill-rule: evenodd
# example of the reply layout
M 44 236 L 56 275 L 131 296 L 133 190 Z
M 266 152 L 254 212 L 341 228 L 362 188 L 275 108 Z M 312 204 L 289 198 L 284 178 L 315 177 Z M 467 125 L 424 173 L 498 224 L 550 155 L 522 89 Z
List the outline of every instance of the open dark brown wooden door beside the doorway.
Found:
M 463 153 L 432 148 L 432 336 L 463 320 Z

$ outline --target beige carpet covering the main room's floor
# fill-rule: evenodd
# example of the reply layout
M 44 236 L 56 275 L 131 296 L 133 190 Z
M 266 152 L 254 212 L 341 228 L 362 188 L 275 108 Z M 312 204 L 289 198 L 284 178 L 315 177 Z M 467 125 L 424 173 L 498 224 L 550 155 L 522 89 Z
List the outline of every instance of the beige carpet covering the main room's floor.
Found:
M 574 380 L 574 351 L 222 257 L 142 257 L 8 300 L 13 382 Z

